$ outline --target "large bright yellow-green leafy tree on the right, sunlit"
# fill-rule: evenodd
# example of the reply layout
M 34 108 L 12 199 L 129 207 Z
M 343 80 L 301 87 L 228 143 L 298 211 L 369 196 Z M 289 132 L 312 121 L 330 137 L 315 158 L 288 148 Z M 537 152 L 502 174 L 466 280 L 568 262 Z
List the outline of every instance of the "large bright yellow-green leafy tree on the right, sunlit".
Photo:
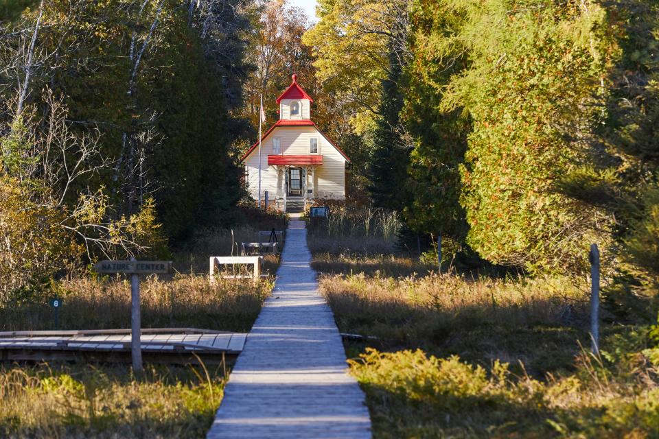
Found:
M 457 45 L 469 62 L 441 103 L 472 119 L 461 166 L 467 244 L 488 261 L 535 272 L 585 268 L 588 245 L 608 243 L 608 217 L 557 182 L 601 117 L 613 46 L 605 11 L 590 1 L 441 5 L 465 16 L 439 56 Z

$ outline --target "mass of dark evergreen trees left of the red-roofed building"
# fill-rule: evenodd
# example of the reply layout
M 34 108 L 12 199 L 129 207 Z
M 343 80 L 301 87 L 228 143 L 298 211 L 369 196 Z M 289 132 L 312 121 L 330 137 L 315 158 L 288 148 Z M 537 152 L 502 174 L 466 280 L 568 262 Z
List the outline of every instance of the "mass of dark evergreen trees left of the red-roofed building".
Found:
M 240 104 L 232 96 L 240 96 L 238 41 L 248 23 L 233 3 L 45 0 L 43 11 L 27 10 L 4 29 L 3 99 L 12 102 L 20 91 L 34 28 L 25 80 L 34 119 L 47 116 L 35 91 L 48 84 L 71 108 L 71 130 L 98 134 L 102 156 L 113 163 L 82 186 L 106 188 L 116 217 L 137 213 L 152 197 L 163 234 L 185 237 L 196 224 L 221 221 L 240 197 L 230 156 L 240 123 L 229 113 Z M 4 117 L 12 119 L 12 111 Z

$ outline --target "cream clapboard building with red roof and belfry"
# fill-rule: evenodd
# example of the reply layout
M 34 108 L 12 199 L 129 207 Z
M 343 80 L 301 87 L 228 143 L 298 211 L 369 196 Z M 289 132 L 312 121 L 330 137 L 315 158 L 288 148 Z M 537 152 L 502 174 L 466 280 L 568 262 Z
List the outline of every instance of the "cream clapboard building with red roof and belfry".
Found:
M 311 200 L 345 200 L 349 158 L 311 120 L 314 100 L 297 75 L 277 97 L 279 120 L 261 139 L 261 198 L 282 211 L 299 211 Z M 259 199 L 259 142 L 244 154 L 248 190 Z

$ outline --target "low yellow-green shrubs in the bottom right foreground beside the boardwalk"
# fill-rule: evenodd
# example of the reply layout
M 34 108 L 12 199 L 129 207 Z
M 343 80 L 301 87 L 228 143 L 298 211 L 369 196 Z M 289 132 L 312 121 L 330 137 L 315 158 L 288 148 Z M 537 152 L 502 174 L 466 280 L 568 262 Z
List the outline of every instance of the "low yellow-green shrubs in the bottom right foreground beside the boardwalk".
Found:
M 607 372 L 582 355 L 576 376 L 546 383 L 494 361 L 367 350 L 351 372 L 367 391 L 375 437 L 656 437 L 656 379 Z

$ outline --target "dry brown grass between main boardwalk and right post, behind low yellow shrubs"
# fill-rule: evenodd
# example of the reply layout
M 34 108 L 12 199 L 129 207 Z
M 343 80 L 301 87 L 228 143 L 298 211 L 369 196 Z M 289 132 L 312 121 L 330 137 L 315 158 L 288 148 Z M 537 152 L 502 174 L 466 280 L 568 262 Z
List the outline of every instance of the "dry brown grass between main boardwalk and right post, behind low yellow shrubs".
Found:
M 520 360 L 542 375 L 572 367 L 577 341 L 588 342 L 585 285 L 567 278 L 354 274 L 320 282 L 340 331 L 375 337 L 368 344 L 387 351 Z

